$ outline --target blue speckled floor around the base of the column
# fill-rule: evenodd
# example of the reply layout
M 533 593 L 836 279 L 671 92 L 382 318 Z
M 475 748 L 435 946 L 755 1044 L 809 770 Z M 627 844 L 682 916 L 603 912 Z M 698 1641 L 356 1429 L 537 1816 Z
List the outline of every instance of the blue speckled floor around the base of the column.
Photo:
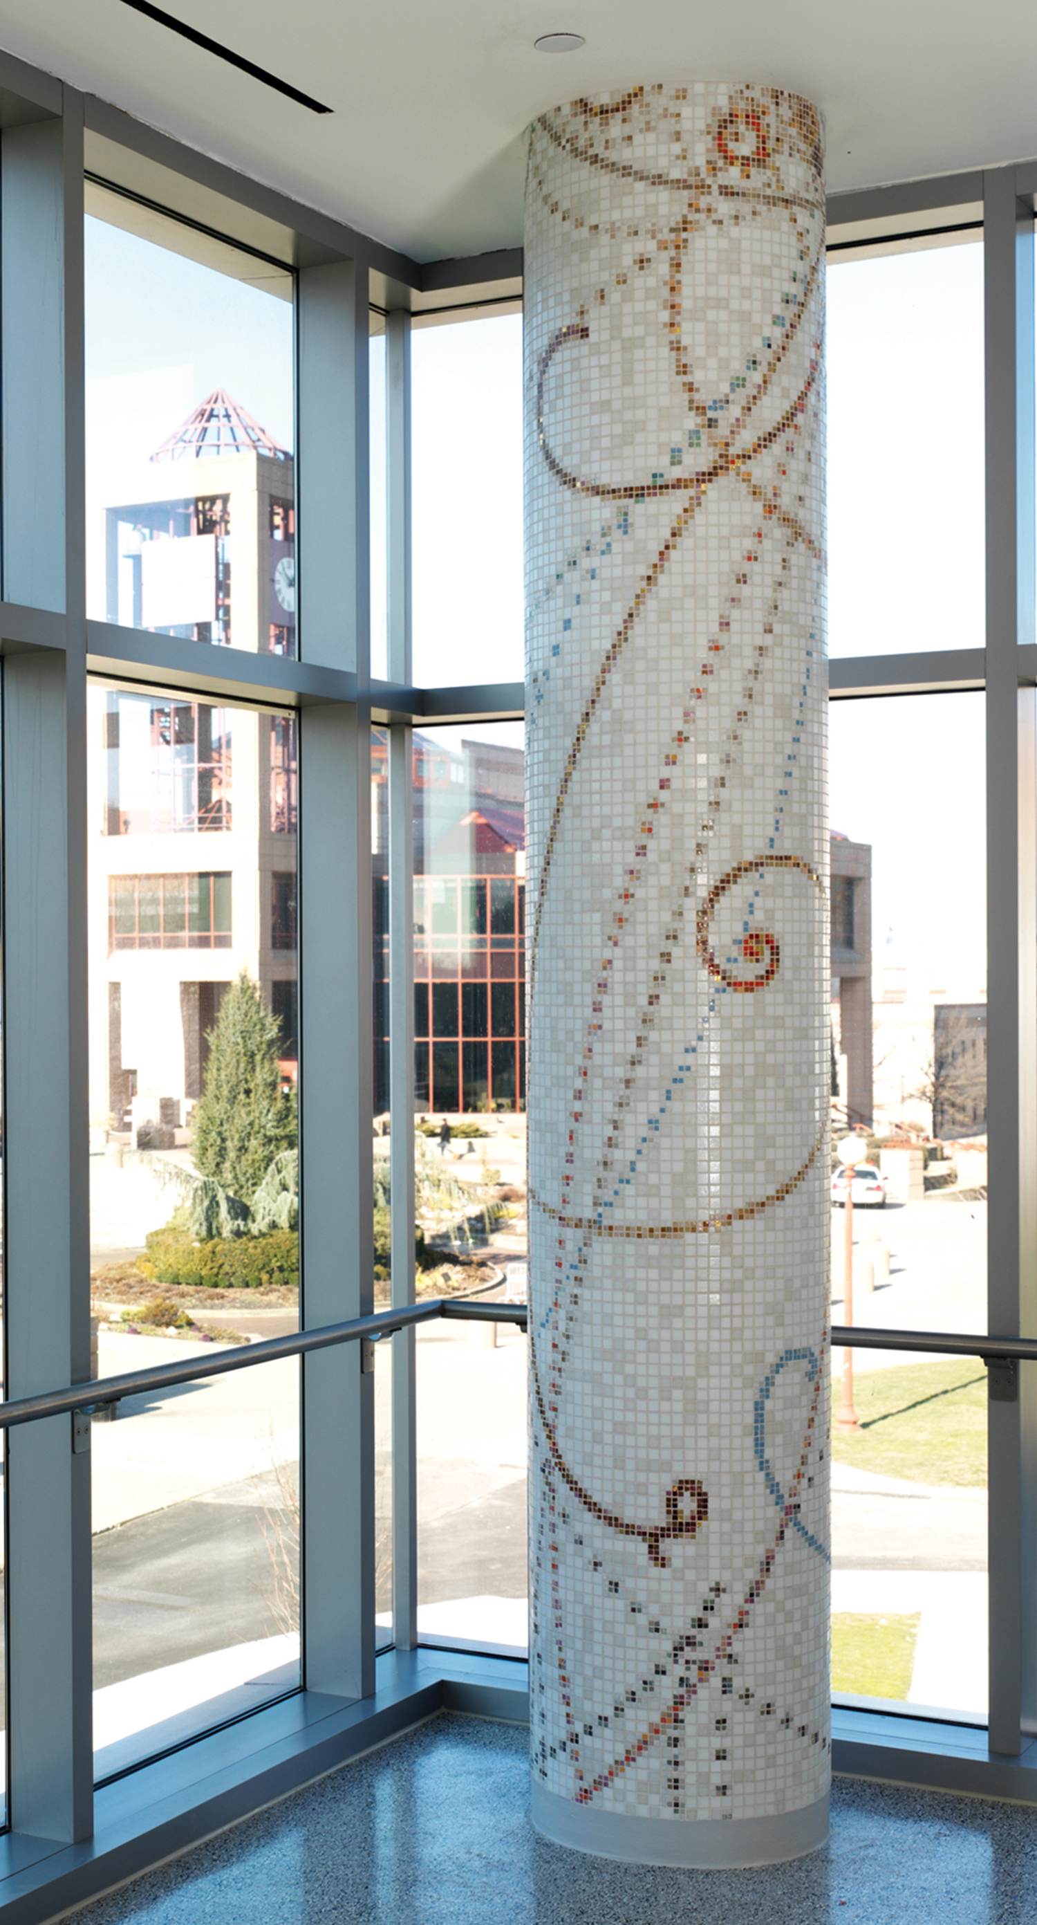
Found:
M 837 1779 L 825 1852 L 652 1871 L 544 1844 L 527 1732 L 419 1731 L 75 1913 L 77 1925 L 1033 1925 L 1037 1813 Z

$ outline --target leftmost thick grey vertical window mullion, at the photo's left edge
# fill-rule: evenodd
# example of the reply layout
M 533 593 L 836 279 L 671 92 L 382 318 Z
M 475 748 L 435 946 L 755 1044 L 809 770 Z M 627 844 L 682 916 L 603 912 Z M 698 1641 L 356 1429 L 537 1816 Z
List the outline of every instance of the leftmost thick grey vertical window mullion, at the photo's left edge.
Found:
M 90 1376 L 83 100 L 6 129 L 6 589 L 65 610 L 65 649 L 4 674 L 6 1394 Z M 10 1819 L 92 1831 L 90 1455 L 67 1417 L 8 1459 Z

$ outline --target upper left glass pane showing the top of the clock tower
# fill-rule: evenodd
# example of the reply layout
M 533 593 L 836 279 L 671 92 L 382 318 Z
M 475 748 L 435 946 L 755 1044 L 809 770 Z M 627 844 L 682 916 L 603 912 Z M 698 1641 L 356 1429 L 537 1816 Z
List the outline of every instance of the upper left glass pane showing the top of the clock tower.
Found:
M 291 271 L 94 183 L 85 244 L 89 614 L 296 654 Z

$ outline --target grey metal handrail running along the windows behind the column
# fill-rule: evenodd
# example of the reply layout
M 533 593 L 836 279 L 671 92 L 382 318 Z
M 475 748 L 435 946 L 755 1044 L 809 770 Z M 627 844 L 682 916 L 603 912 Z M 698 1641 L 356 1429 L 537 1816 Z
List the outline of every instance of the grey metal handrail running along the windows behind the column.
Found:
M 310 1351 L 331 1349 L 335 1344 L 358 1344 L 364 1338 L 377 1342 L 396 1330 L 435 1322 L 437 1317 L 462 1322 L 512 1322 L 525 1330 L 529 1309 L 525 1303 L 471 1303 L 466 1297 L 431 1297 L 427 1303 L 371 1311 L 369 1317 L 352 1317 L 348 1322 L 296 1330 L 291 1336 L 271 1336 L 264 1338 L 262 1344 L 242 1344 L 240 1349 L 221 1349 L 215 1357 L 206 1357 L 204 1363 L 185 1357 L 183 1363 L 125 1371 L 121 1376 L 98 1376 L 85 1384 L 71 1384 L 67 1390 L 42 1390 L 35 1398 L 12 1398 L 10 1403 L 0 1403 L 0 1430 L 31 1424 L 40 1417 L 62 1417 L 67 1411 L 119 1403 L 123 1398 L 139 1398 L 150 1390 L 175 1390 L 177 1384 L 225 1376 L 227 1371 L 250 1371 L 254 1365 L 277 1363 L 281 1357 L 306 1357 Z M 948 1357 L 981 1357 L 985 1363 L 1037 1361 L 1037 1338 L 1029 1336 L 970 1336 L 966 1332 L 872 1330 L 858 1324 L 833 1324 L 831 1342 L 843 1349 L 927 1349 Z

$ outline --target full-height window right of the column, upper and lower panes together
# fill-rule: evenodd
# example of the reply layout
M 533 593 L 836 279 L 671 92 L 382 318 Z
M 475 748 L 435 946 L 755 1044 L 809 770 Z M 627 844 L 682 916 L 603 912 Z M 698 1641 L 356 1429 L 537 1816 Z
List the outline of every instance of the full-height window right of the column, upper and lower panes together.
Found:
M 983 244 L 933 241 L 827 260 L 829 654 L 864 683 L 875 656 L 983 647 Z M 985 703 L 868 695 L 831 705 L 829 737 L 833 1140 L 860 1138 L 850 1226 L 833 1182 L 833 1319 L 979 1332 Z M 835 1353 L 841 1702 L 985 1719 L 985 1415 L 974 1357 Z

